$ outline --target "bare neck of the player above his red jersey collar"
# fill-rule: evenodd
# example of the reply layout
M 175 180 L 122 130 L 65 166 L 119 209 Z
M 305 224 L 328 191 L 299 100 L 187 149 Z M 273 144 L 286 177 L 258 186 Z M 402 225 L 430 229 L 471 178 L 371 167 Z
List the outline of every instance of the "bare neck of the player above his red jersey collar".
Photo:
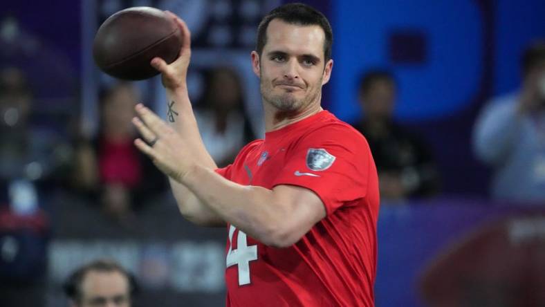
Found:
M 265 131 L 275 131 L 281 128 L 304 120 L 316 113 L 322 111 L 322 106 L 319 103 L 311 103 L 302 110 L 297 111 L 279 111 L 268 103 L 264 104 L 265 112 Z

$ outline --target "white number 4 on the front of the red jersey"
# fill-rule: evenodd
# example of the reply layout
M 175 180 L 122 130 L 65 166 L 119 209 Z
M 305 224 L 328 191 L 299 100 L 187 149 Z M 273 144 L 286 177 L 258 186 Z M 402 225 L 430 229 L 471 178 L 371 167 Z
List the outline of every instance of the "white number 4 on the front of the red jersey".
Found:
M 257 260 L 257 245 L 248 246 L 246 234 L 241 230 L 237 230 L 237 249 L 233 250 L 233 234 L 237 230 L 236 227 L 229 227 L 229 252 L 225 263 L 227 267 L 239 266 L 239 286 L 250 283 L 250 261 Z

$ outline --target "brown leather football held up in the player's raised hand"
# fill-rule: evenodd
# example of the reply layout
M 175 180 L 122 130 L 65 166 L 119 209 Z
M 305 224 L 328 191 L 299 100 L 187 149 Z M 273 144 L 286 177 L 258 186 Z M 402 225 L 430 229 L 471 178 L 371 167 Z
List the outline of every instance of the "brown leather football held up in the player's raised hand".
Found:
M 182 46 L 176 21 L 162 10 L 140 6 L 111 15 L 95 35 L 93 58 L 104 73 L 123 80 L 144 80 L 159 72 L 149 62 L 174 62 Z

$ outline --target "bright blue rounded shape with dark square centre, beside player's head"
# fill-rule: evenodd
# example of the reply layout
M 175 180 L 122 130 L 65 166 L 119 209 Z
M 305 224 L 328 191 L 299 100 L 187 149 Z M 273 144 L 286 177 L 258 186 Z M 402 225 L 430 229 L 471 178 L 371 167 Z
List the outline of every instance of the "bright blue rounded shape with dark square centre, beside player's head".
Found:
M 473 1 L 341 1 L 333 20 L 334 111 L 345 120 L 358 119 L 353 110 L 359 77 L 376 66 L 391 68 L 398 77 L 401 120 L 452 114 L 477 91 L 483 28 Z M 396 36 L 408 40 L 398 46 L 403 49 L 391 46 Z M 394 53 L 405 55 L 395 59 Z

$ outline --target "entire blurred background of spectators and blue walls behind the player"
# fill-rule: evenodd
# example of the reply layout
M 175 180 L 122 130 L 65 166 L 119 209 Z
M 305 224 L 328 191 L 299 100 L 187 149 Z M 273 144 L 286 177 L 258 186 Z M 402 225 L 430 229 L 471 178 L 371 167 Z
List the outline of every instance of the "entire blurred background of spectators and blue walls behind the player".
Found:
M 378 165 L 376 305 L 545 306 L 545 1 L 302 2 L 333 26 L 324 109 Z M 181 16 L 203 140 L 227 165 L 264 136 L 250 51 L 281 3 L 3 1 L 0 306 L 68 306 L 62 282 L 103 257 L 136 276 L 136 306 L 225 304 L 226 231 L 184 221 L 131 145 L 136 102 L 167 113 L 160 80 L 100 73 L 93 37 L 130 6 Z

